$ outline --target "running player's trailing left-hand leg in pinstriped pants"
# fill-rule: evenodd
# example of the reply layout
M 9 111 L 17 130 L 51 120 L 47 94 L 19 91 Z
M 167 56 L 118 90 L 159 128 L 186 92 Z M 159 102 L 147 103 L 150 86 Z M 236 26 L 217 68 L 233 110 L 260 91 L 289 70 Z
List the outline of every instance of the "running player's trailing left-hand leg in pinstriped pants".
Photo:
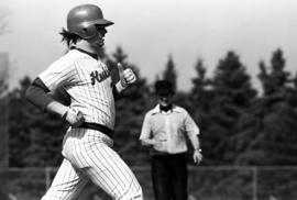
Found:
M 84 189 L 88 178 L 64 159 L 42 200 L 70 200 Z

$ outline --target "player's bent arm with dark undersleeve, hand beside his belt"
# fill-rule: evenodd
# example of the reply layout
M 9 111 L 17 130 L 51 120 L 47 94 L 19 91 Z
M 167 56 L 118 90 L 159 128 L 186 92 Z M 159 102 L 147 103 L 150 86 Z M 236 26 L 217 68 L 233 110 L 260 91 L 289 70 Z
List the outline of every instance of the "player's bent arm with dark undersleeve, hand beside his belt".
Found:
M 40 78 L 36 78 L 28 88 L 25 98 L 38 109 L 56 113 L 72 125 L 77 126 L 85 121 L 80 112 L 77 112 L 54 100 L 48 92 L 50 89 L 44 85 L 44 82 Z

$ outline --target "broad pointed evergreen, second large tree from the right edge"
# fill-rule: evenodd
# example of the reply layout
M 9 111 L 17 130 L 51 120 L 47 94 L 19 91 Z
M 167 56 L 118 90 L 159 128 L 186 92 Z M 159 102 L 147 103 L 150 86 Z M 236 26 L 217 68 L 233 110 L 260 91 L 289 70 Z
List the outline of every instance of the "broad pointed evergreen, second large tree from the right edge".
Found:
M 228 52 L 219 62 L 212 79 L 213 100 L 207 135 L 211 149 L 206 151 L 218 164 L 232 164 L 238 155 L 237 142 L 242 130 L 242 118 L 250 109 L 256 90 L 251 77 L 234 52 Z

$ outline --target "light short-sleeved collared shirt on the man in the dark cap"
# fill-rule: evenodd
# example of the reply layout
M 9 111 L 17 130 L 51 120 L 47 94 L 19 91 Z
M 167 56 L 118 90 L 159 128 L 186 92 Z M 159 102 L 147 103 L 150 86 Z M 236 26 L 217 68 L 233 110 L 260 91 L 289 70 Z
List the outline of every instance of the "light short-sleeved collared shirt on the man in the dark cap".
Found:
M 177 105 L 164 112 L 157 104 L 145 114 L 140 140 L 163 141 L 163 145 L 154 148 L 151 154 L 178 154 L 187 151 L 186 134 L 199 134 L 199 129 L 188 112 Z

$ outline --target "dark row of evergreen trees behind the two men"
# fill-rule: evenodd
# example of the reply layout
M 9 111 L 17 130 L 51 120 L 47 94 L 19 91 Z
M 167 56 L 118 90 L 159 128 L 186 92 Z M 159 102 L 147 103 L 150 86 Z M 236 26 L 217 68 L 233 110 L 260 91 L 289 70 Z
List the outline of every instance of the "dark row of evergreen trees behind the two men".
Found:
M 102 59 L 114 81 L 119 79 L 118 62 L 130 66 L 139 78 L 116 102 L 114 149 L 129 165 L 147 165 L 148 153 L 141 146 L 139 136 L 145 112 L 156 102 L 153 84 L 141 75 L 141 67 L 128 60 L 121 47 L 111 55 L 102 53 Z M 218 62 L 211 77 L 206 76 L 202 59 L 194 67 L 196 74 L 190 90 L 177 90 L 175 102 L 184 107 L 200 127 L 202 165 L 297 164 L 297 75 L 286 70 L 282 49 L 273 52 L 268 64 L 258 63 L 260 89 L 254 88 L 246 66 L 233 51 Z M 168 57 L 158 78 L 168 79 L 178 88 L 173 56 Z M 26 102 L 24 93 L 31 82 L 26 76 L 11 91 L 0 82 L 1 101 L 9 100 L 10 110 L 9 164 L 10 167 L 58 166 L 67 124 Z

